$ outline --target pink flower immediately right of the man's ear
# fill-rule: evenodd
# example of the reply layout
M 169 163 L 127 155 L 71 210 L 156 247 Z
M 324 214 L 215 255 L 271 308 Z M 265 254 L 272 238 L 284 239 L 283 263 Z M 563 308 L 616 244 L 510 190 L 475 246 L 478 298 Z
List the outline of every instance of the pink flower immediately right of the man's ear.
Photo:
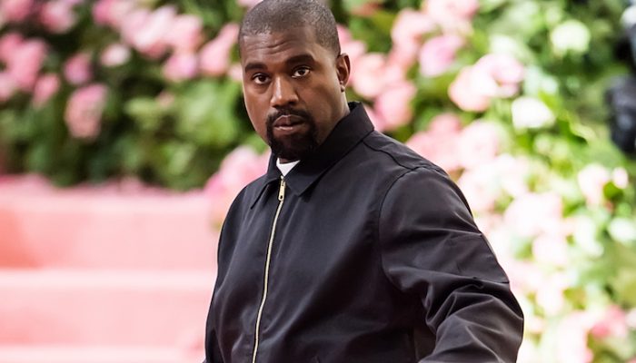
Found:
M 368 99 L 373 99 L 380 94 L 385 88 L 382 79 L 385 66 L 384 54 L 363 54 L 356 64 L 352 64 L 349 82 L 352 84 L 353 91 Z

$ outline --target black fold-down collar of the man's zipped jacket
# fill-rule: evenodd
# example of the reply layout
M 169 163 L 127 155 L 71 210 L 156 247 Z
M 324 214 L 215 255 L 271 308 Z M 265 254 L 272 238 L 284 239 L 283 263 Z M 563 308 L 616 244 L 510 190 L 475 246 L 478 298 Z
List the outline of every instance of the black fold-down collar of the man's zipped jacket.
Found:
M 291 172 L 285 176 L 289 189 L 296 195 L 303 194 L 318 178 L 335 162 L 343 158 L 353 146 L 364 136 L 373 131 L 373 123 L 364 111 L 361 103 L 349 103 L 350 113 L 338 122 L 316 152 L 307 159 L 301 160 Z M 279 181 L 281 172 L 276 167 L 276 156 L 270 156 L 267 173 L 257 186 L 259 192 L 253 200 L 255 203 L 263 189 L 271 182 Z M 252 203 L 252 205 L 253 205 Z

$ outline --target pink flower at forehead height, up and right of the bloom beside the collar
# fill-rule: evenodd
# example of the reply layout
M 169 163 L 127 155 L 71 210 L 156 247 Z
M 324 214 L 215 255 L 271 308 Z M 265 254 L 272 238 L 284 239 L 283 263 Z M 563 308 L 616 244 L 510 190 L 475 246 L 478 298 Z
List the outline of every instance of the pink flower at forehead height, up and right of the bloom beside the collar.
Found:
M 455 61 L 455 54 L 463 43 L 463 38 L 455 34 L 429 39 L 420 50 L 420 73 L 425 77 L 444 74 Z

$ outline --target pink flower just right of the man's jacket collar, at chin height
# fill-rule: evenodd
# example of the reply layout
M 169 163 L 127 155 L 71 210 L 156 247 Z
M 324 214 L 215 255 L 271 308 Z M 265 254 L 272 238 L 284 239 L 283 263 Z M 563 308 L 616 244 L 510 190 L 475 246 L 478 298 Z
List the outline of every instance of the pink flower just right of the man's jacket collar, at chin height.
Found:
M 412 118 L 411 102 L 417 88 L 411 82 L 393 83 L 375 99 L 375 112 L 383 118 L 386 130 L 394 130 Z

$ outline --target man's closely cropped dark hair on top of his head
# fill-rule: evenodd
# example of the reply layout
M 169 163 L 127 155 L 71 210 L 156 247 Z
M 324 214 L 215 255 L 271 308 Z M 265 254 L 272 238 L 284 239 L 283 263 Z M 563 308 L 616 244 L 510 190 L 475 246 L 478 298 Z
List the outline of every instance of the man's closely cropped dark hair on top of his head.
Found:
M 285 32 L 310 26 L 318 44 L 340 54 L 340 40 L 331 10 L 317 0 L 264 0 L 243 17 L 238 35 L 239 52 L 245 35 Z

